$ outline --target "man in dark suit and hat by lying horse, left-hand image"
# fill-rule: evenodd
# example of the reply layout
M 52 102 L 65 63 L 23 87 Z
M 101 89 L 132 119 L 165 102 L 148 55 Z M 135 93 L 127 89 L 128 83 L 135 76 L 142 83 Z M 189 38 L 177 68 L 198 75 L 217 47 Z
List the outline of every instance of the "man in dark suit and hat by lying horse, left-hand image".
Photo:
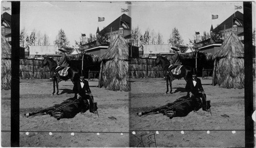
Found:
M 89 87 L 89 82 L 84 79 L 84 77 L 80 77 L 80 79 L 75 80 L 73 92 L 75 93 L 74 97 L 77 97 L 78 100 L 83 100 L 86 104 L 86 108 L 82 110 L 82 112 L 90 109 L 90 112 L 96 113 L 96 108 L 94 107 L 94 100 L 91 89 Z M 88 103 L 88 100 L 90 104 Z

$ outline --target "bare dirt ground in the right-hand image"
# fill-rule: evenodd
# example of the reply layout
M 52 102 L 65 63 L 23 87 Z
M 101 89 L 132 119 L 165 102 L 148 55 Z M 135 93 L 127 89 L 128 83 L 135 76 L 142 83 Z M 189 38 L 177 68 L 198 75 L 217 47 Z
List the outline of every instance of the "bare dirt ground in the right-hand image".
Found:
M 201 79 L 202 80 L 202 79 Z M 173 81 L 173 94 L 164 94 L 163 78 L 132 79 L 130 93 L 130 146 L 146 147 L 244 147 L 244 89 L 204 85 L 211 112 L 200 109 L 186 117 L 169 119 L 162 114 L 138 116 L 186 95 L 185 81 Z M 255 86 L 255 81 L 253 82 Z M 255 90 L 255 88 L 253 89 Z M 254 91 L 255 98 L 255 91 Z M 255 101 L 254 101 L 255 102 Z M 255 105 L 254 105 L 255 110 Z M 228 115 L 223 117 L 221 115 Z

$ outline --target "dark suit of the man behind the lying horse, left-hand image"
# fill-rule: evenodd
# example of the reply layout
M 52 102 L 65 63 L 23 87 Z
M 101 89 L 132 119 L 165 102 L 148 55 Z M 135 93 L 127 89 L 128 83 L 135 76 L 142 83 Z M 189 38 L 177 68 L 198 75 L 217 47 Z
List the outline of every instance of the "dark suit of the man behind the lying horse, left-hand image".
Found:
M 84 84 L 83 87 L 81 86 L 81 83 Z M 77 94 L 79 94 L 82 97 L 82 100 L 87 105 L 87 108 L 84 109 L 85 111 L 89 109 L 89 106 L 90 106 L 90 112 L 94 111 L 93 96 L 89 95 L 91 93 L 91 89 L 89 87 L 89 83 L 87 80 L 83 80 L 82 82 L 80 81 L 80 79 L 76 80 L 74 82 L 73 92 L 75 93 L 74 97 L 77 97 Z M 88 103 L 88 100 L 90 104 Z

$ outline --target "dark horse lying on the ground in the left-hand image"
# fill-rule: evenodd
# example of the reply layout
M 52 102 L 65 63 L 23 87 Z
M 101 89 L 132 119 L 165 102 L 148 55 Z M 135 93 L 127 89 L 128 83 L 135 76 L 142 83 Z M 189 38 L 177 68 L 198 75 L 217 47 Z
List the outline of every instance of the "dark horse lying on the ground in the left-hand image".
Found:
M 88 105 L 86 105 L 86 103 L 84 103 L 82 99 L 78 100 L 76 97 L 71 97 L 62 102 L 61 104 L 55 104 L 52 107 L 37 112 L 27 113 L 25 114 L 25 116 L 49 114 L 59 120 L 61 118 L 73 118 L 79 112 L 84 113 L 89 109 L 90 112 L 97 113 L 98 107 L 96 102 L 93 103 L 93 96 L 91 96 L 90 102 L 92 102 L 92 105 L 90 104 L 89 107 Z

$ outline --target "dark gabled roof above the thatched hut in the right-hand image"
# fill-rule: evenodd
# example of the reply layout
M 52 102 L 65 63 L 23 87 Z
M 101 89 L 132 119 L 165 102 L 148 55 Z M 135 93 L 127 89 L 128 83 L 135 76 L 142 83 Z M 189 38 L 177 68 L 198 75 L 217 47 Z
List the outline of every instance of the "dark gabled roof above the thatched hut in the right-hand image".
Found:
M 240 11 L 237 11 L 233 13 L 231 16 L 229 16 L 226 20 L 224 20 L 218 27 L 214 29 L 214 31 L 224 30 L 224 28 L 231 28 L 234 24 L 237 24 L 238 26 L 243 27 L 244 26 L 243 20 L 244 20 L 243 13 L 241 13 Z M 241 25 L 238 24 L 239 22 L 241 23 Z

